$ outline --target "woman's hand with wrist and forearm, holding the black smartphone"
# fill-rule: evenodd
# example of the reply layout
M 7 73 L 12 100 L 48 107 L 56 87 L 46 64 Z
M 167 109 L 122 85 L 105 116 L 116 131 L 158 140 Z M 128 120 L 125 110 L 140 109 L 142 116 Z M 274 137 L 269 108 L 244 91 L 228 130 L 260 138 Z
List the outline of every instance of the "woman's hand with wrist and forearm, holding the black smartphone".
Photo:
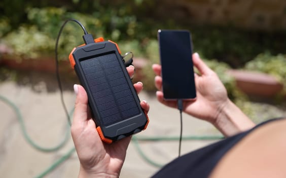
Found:
M 195 100 L 184 100 L 183 111 L 210 122 L 226 136 L 254 127 L 254 123 L 229 100 L 226 88 L 218 75 L 201 60 L 198 53 L 193 54 L 193 64 L 200 72 L 200 75 L 194 74 L 197 97 Z M 155 86 L 158 89 L 158 101 L 177 108 L 177 101 L 164 99 L 161 66 L 154 64 L 152 68 L 157 75 Z

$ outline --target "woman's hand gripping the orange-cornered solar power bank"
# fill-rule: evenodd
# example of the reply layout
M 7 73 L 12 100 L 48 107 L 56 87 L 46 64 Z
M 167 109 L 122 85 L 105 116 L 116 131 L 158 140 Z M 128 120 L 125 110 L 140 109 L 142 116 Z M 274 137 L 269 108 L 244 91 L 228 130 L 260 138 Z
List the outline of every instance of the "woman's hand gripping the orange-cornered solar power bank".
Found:
M 129 76 L 132 76 L 134 67 L 126 69 Z M 134 88 L 139 93 L 143 88 L 142 83 L 135 83 Z M 131 136 L 111 144 L 102 142 L 91 118 L 86 91 L 76 84 L 74 89 L 77 99 L 71 136 L 80 160 L 79 177 L 119 177 Z M 149 111 L 146 101 L 141 101 L 140 105 L 146 112 Z

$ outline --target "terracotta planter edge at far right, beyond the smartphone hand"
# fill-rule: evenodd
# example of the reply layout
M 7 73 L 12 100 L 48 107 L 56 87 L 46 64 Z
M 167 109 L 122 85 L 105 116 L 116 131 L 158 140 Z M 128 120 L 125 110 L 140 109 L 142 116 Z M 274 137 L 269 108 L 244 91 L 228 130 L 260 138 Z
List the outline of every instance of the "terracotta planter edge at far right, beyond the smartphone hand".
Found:
M 237 87 L 249 96 L 273 97 L 283 89 L 275 77 L 264 73 L 230 70 L 228 74 L 235 78 Z

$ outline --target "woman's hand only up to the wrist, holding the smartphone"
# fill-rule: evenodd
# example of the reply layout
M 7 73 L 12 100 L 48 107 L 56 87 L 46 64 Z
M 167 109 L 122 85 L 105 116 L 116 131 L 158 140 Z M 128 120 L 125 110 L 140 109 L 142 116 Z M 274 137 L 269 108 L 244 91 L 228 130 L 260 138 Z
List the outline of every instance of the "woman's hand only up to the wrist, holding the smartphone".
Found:
M 226 88 L 217 74 L 200 59 L 198 53 L 193 54 L 193 64 L 200 72 L 200 75 L 194 74 L 197 97 L 192 101 L 184 100 L 183 111 L 213 123 L 228 101 Z M 163 98 L 161 66 L 154 64 L 152 67 L 157 75 L 155 77 L 155 85 L 159 90 L 156 93 L 157 99 L 167 106 L 176 108 L 176 101 L 169 101 Z

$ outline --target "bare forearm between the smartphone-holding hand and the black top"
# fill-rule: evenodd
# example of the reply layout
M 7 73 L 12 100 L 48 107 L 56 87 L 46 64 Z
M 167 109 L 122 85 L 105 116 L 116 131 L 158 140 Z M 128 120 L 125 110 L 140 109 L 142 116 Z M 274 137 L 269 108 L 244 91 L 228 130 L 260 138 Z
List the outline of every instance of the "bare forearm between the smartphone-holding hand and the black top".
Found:
M 229 99 L 221 108 L 215 123 L 212 124 L 226 137 L 246 131 L 255 126 L 255 124 Z

